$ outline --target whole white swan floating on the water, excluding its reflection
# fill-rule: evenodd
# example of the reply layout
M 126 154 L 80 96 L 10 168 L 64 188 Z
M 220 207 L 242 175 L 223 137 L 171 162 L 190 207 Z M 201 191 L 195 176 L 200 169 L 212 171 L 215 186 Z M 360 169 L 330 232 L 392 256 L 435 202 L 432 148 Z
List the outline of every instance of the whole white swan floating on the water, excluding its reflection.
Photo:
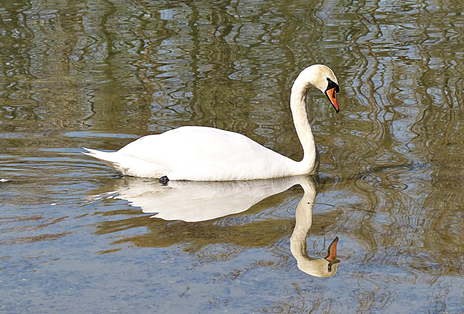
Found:
M 327 66 L 304 69 L 291 90 L 290 109 L 303 146 L 301 161 L 291 160 L 245 135 L 218 128 L 181 127 L 159 135 L 144 136 L 117 152 L 85 148 L 84 153 L 125 175 L 164 180 L 231 181 L 271 179 L 317 173 L 319 152 L 306 111 L 311 86 L 321 90 L 338 112 L 338 81 Z

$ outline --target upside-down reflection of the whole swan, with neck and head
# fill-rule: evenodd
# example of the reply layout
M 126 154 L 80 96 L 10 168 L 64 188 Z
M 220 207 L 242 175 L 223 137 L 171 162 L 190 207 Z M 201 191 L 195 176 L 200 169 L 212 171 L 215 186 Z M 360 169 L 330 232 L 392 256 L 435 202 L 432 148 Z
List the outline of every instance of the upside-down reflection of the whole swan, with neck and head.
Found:
M 115 191 L 98 196 L 119 194 L 114 199 L 127 200 L 129 205 L 141 207 L 144 213 L 153 213 L 150 218 L 199 222 L 246 211 L 267 197 L 300 185 L 304 195 L 296 207 L 290 251 L 300 270 L 311 276 L 329 277 L 336 274 L 340 263 L 336 258 L 338 237 L 329 245 L 326 257 L 312 258 L 306 254 L 317 181 L 314 176 L 296 176 L 249 181 L 170 181 L 163 186 L 156 181 L 129 178 Z

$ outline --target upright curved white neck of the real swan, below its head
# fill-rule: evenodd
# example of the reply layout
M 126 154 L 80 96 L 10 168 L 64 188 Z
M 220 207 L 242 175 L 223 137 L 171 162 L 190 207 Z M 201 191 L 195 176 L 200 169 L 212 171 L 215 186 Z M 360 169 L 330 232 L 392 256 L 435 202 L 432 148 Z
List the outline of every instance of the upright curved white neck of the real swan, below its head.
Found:
M 301 173 L 317 173 L 319 171 L 319 152 L 314 141 L 313 132 L 308 121 L 306 96 L 311 85 L 302 77 L 297 77 L 290 96 L 290 109 L 295 123 L 296 134 L 303 146 L 303 160 L 298 162 Z

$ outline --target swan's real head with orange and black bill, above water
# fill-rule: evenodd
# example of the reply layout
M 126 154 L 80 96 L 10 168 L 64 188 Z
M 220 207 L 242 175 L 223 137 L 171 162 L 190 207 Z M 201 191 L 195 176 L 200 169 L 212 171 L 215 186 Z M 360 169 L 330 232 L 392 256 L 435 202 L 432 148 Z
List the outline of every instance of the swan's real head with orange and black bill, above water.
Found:
M 311 86 L 316 87 L 318 90 L 322 91 L 325 96 L 327 96 L 337 113 L 340 111 L 336 96 L 336 93 L 340 92 L 338 80 L 335 77 L 334 72 L 330 70 L 328 66 L 323 64 L 314 64 L 307 67 L 296 78 L 292 90 L 293 88 L 303 87 L 304 94 L 306 95 Z

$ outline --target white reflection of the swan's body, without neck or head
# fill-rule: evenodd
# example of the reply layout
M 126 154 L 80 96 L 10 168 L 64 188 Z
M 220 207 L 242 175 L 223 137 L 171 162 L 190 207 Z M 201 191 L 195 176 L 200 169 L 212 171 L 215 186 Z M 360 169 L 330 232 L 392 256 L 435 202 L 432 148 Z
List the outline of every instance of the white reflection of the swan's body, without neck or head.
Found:
M 297 184 L 297 177 L 248 181 L 170 181 L 158 182 L 131 179 L 129 186 L 104 193 L 119 194 L 132 206 L 141 207 L 152 217 L 187 222 L 205 221 L 246 211 L 259 201 L 288 190 Z

